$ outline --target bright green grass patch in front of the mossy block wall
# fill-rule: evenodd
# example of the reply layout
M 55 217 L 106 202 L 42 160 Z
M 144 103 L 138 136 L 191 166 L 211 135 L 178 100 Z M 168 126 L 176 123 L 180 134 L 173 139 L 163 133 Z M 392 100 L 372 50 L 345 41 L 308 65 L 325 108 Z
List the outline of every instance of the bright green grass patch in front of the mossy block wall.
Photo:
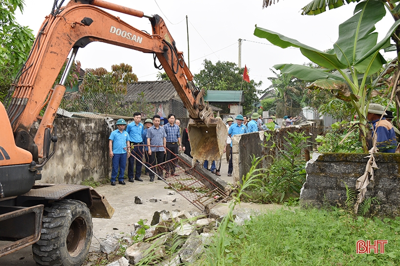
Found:
M 241 227 L 230 223 L 220 265 L 400 265 L 399 231 L 400 217 L 382 221 L 340 209 L 282 209 L 253 217 Z M 356 254 L 360 239 L 388 240 L 388 244 L 384 254 Z M 203 263 L 207 265 L 207 260 Z

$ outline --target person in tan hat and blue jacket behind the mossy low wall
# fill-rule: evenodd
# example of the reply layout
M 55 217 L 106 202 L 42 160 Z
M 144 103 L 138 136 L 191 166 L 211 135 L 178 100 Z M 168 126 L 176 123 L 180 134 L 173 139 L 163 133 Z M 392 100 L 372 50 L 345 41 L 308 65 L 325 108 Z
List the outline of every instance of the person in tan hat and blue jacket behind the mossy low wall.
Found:
M 396 133 L 392 123 L 387 121 L 384 117 L 371 122 L 373 129 L 376 128 L 377 132 L 377 148 L 379 152 L 395 153 L 397 147 Z M 374 136 L 374 131 L 372 131 Z

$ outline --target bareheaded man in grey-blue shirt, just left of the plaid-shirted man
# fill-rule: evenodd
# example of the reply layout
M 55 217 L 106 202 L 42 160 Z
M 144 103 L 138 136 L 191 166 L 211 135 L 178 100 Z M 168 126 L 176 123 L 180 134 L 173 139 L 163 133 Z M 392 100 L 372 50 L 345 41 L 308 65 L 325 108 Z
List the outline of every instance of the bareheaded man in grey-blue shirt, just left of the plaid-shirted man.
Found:
M 147 147 L 149 154 L 149 162 L 152 166 L 164 162 L 164 156 L 166 154 L 165 147 L 165 138 L 167 134 L 165 134 L 164 127 L 160 126 L 160 116 L 154 115 L 153 116 L 153 126 L 147 129 Z M 157 172 L 159 177 L 162 177 L 162 168 L 160 166 L 152 168 L 150 171 L 150 182 L 154 181 L 154 172 Z

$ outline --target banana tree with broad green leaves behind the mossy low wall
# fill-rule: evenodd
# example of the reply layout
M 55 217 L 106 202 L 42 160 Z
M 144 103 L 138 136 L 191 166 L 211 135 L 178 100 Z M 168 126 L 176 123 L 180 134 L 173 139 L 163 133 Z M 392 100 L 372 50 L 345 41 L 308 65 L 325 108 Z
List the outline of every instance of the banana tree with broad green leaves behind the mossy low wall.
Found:
M 381 70 L 386 63 L 380 50 L 390 45 L 400 20 L 395 21 L 388 33 L 378 42 L 375 24 L 386 14 L 384 3 L 380 0 L 364 0 L 357 4 L 354 16 L 339 26 L 339 38 L 333 49 L 322 52 L 288 38 L 279 33 L 257 27 L 254 35 L 265 38 L 281 48 L 297 47 L 312 62 L 324 69 L 313 69 L 295 64 L 280 64 L 274 68 L 281 73 L 291 74 L 301 80 L 312 82 L 310 87 L 330 89 L 336 97 L 348 101 L 355 108 L 360 119 L 360 138 L 367 152 L 366 106 L 370 91 L 370 76 Z M 329 71 L 334 70 L 330 73 Z

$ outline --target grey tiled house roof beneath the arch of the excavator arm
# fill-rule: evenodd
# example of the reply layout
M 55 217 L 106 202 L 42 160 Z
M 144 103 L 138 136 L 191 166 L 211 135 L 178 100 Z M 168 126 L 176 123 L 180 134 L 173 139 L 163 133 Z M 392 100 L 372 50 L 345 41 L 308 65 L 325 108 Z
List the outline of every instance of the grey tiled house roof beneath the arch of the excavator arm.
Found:
M 165 103 L 170 99 L 181 101 L 178 92 L 169 80 L 140 81 L 129 84 L 125 101 L 135 101 L 140 93 L 144 93 L 144 98 L 150 103 Z

